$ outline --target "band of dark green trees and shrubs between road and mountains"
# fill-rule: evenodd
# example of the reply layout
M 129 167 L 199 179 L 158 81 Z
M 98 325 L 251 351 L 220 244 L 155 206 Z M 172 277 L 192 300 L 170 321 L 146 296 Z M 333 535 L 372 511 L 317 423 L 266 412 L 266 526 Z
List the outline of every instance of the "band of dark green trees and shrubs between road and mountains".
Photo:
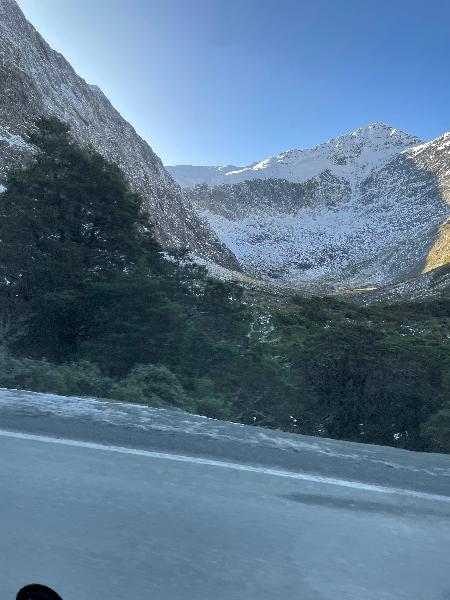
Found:
M 0 386 L 450 451 L 450 298 L 268 302 L 168 258 L 120 170 L 41 119 L 0 196 Z

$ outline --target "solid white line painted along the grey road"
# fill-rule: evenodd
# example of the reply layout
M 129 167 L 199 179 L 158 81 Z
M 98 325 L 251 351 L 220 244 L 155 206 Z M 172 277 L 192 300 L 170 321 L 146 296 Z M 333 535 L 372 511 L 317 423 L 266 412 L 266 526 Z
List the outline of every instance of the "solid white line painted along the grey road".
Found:
M 413 498 L 421 498 L 422 500 L 432 500 L 438 502 L 446 502 L 450 504 L 450 496 L 442 496 L 439 494 L 428 494 L 427 492 L 419 492 L 416 490 L 408 490 L 403 488 L 391 488 L 360 481 L 351 481 L 346 479 L 334 479 L 333 477 L 322 477 L 320 475 L 312 475 L 310 473 L 296 473 L 294 471 L 286 471 L 283 469 L 271 469 L 268 467 L 253 467 L 240 463 L 226 462 L 209 458 L 198 458 L 195 456 L 186 456 L 182 454 L 170 454 L 168 452 L 154 452 L 153 450 L 141 450 L 135 448 L 126 448 L 124 446 L 109 446 L 106 444 L 97 444 L 95 442 L 83 442 L 78 440 L 68 440 L 64 438 L 53 438 L 44 435 L 35 435 L 31 433 L 18 433 L 15 431 L 0 430 L 0 437 L 14 438 L 20 440 L 30 440 L 33 442 L 42 442 L 45 444 L 56 444 L 61 446 L 71 446 L 74 448 L 84 448 L 87 450 L 100 450 L 102 452 L 117 452 L 119 454 L 130 454 L 132 456 L 144 456 L 147 458 L 170 460 L 174 462 L 190 463 L 196 465 L 204 465 L 208 467 L 219 467 L 222 469 L 231 469 L 233 471 L 243 471 L 246 473 L 259 473 L 263 475 L 271 475 L 273 477 L 285 477 L 288 479 L 296 479 L 299 481 L 310 481 L 313 483 L 322 483 L 326 485 L 336 485 L 345 488 L 353 488 L 368 492 L 377 492 L 381 494 L 393 494 L 400 496 L 409 496 Z

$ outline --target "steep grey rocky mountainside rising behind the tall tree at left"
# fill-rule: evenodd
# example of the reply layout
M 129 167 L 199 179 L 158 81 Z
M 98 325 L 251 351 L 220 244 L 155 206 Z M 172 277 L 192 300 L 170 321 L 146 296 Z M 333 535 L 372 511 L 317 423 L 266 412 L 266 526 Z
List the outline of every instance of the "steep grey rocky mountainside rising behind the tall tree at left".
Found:
M 0 184 L 25 160 L 24 136 L 39 116 L 66 121 L 74 138 L 117 163 L 144 199 L 165 247 L 239 269 L 228 248 L 202 221 L 161 160 L 114 109 L 102 91 L 79 77 L 25 19 L 14 0 L 0 0 Z

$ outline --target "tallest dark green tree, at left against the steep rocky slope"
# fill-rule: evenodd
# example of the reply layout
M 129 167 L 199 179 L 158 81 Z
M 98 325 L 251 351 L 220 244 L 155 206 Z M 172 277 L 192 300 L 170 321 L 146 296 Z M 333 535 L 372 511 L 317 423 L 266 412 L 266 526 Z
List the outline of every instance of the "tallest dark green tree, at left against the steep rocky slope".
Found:
M 26 313 L 23 349 L 67 360 L 101 333 L 111 299 L 127 300 L 117 290 L 157 287 L 167 261 L 117 166 L 77 146 L 55 118 L 40 119 L 29 142 L 34 159 L 0 196 L 0 292 Z M 152 295 L 158 310 L 170 304 L 163 296 Z

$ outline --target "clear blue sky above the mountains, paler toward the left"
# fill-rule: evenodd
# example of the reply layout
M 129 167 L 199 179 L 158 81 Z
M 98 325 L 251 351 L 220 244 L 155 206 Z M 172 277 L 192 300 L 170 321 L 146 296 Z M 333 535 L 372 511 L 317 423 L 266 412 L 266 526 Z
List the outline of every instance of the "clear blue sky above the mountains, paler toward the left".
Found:
M 165 164 L 450 130 L 448 0 L 18 0 Z

